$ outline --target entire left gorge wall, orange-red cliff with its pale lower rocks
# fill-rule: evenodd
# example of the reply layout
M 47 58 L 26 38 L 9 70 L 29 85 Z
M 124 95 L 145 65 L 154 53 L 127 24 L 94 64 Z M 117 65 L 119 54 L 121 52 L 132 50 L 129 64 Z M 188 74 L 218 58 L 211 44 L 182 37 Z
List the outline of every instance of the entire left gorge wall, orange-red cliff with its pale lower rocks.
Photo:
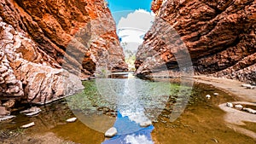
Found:
M 127 70 L 103 0 L 1 1 L 0 34 L 0 100 L 49 102 L 96 70 Z

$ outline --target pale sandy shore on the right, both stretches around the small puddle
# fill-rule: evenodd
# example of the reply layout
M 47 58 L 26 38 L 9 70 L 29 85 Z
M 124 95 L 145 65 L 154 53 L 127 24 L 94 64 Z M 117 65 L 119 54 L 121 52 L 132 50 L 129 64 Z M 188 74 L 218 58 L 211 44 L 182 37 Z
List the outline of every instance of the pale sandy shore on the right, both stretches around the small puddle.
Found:
M 191 79 L 191 78 L 190 78 Z M 217 89 L 221 89 L 224 92 L 236 96 L 239 101 L 230 101 L 233 104 L 248 104 L 256 106 L 256 89 L 246 89 L 241 87 L 241 82 L 237 80 L 231 80 L 226 78 L 211 78 L 207 76 L 195 76 L 195 82 L 202 84 L 211 84 Z M 256 132 L 242 128 L 241 125 L 246 125 L 243 122 L 256 123 L 255 114 L 236 110 L 235 108 L 226 107 L 226 104 L 218 106 L 226 114 L 224 115 L 224 121 L 227 126 L 243 135 L 252 137 L 256 141 Z

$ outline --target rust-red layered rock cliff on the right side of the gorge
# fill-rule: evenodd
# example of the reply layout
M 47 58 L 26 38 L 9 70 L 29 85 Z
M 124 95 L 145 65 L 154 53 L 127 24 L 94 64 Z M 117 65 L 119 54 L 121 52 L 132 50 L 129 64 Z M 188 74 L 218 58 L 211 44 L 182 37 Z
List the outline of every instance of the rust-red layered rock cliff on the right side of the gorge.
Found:
M 255 1 L 154 0 L 151 9 L 158 18 L 138 49 L 137 74 L 147 75 L 161 66 L 176 71 L 176 54 L 184 43 L 195 74 L 255 84 Z M 176 32 L 169 31 L 163 40 L 166 26 Z

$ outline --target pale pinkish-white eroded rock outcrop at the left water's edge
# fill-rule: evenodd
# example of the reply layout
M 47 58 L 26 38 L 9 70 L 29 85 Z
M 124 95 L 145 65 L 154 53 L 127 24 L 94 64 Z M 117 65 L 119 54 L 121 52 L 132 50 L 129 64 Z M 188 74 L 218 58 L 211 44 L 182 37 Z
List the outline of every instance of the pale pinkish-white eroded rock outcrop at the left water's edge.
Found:
M 1 100 L 53 101 L 83 89 L 80 79 L 64 69 L 51 67 L 53 60 L 23 33 L 0 20 Z M 38 62 L 37 62 L 38 61 Z M 57 63 L 56 63 L 57 65 Z

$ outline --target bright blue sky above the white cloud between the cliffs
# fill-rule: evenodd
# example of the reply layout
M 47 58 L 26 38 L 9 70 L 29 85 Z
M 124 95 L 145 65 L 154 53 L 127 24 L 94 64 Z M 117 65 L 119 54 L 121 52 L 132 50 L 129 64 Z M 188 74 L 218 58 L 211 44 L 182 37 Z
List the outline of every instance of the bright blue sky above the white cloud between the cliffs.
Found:
M 121 17 L 132 13 L 136 9 L 145 9 L 150 12 L 152 0 L 107 0 L 108 8 L 113 14 L 113 19 L 116 23 L 119 22 Z

